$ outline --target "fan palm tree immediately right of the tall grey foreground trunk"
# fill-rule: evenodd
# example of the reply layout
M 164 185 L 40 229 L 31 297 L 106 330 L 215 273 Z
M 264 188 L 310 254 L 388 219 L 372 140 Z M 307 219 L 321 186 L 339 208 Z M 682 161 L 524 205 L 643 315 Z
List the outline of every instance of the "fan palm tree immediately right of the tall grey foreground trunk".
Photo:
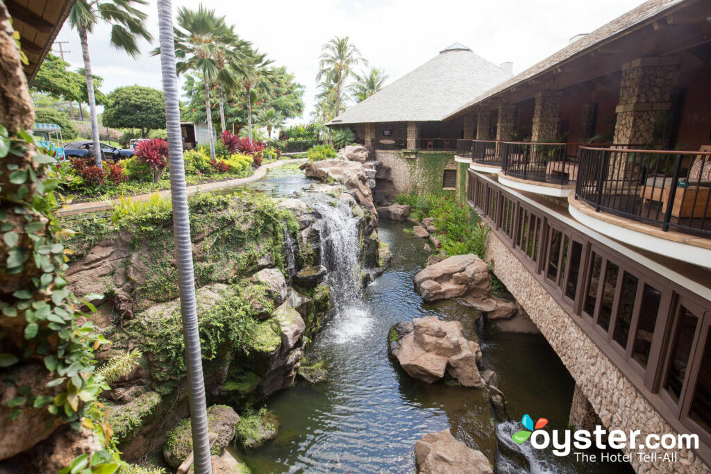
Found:
M 203 4 L 197 11 L 182 7 L 178 10 L 178 26 L 173 27 L 175 55 L 181 60 L 176 63 L 178 74 L 197 70 L 205 83 L 205 111 L 210 129 L 210 156 L 215 158 L 215 137 L 213 136 L 213 114 L 210 108 L 210 85 L 218 80 L 220 67 L 215 58 L 223 48 L 229 48 L 237 41 L 232 26 L 225 23 L 224 16 L 216 16 L 215 10 L 205 9 Z M 153 55 L 161 53 L 156 48 Z

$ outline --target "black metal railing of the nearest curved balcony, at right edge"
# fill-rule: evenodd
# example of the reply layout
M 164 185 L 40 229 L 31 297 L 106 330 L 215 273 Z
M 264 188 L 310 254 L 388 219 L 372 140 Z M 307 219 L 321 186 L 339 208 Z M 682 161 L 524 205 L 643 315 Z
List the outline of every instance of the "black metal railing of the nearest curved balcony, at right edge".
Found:
M 581 146 L 575 197 L 596 211 L 711 237 L 711 152 Z

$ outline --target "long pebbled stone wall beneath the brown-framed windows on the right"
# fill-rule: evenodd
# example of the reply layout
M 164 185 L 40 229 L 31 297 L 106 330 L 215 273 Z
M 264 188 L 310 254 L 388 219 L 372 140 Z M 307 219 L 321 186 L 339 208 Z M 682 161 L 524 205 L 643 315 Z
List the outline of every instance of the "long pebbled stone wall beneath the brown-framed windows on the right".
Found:
M 489 259 L 496 276 L 538 326 L 606 429 L 640 430 L 640 439 L 649 433 L 677 433 L 493 232 L 486 247 Z M 632 455 L 638 473 L 707 472 L 701 458 L 688 449 L 657 451 L 659 459 L 664 453 L 678 452 L 674 463 L 643 463 L 636 453 L 624 451 Z

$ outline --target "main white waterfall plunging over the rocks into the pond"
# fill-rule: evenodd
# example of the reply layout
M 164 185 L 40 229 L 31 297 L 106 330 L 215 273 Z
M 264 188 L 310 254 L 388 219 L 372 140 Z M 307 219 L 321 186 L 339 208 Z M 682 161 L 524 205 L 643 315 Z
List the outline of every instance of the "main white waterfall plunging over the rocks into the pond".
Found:
M 311 195 L 309 206 L 321 216 L 319 257 L 328 269 L 331 305 L 336 310 L 328 333 L 336 343 L 347 343 L 372 325 L 363 304 L 358 217 L 348 203 L 326 194 Z

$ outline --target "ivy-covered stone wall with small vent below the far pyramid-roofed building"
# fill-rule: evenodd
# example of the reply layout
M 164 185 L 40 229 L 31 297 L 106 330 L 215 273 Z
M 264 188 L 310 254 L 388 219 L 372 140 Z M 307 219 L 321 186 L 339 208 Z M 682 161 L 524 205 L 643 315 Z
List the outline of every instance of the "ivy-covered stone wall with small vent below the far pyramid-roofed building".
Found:
M 390 181 L 397 193 L 434 193 L 453 195 L 459 192 L 442 189 L 442 173 L 457 169 L 454 151 L 375 151 L 375 159 L 390 171 Z M 377 176 L 376 176 L 377 178 Z M 459 176 L 458 182 L 459 182 Z

